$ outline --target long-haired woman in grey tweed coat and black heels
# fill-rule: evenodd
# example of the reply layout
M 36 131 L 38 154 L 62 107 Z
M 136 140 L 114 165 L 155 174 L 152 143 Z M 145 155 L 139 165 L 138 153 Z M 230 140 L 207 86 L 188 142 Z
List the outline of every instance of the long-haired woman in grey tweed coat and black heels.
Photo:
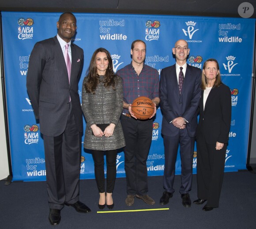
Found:
M 83 146 L 92 151 L 100 209 L 105 204 L 109 209 L 114 206 L 112 192 L 117 173 L 117 149 L 125 146 L 120 124 L 122 109 L 123 80 L 113 72 L 109 51 L 98 48 L 91 58 L 87 77 L 83 80 L 82 110 L 87 121 Z M 101 129 L 99 124 L 108 125 Z M 106 194 L 104 152 L 107 163 Z

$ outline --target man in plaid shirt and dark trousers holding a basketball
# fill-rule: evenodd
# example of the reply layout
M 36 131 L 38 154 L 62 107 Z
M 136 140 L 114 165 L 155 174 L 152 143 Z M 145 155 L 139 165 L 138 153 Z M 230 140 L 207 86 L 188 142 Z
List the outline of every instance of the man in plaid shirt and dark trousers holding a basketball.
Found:
M 131 206 L 134 197 L 142 199 L 146 204 L 154 204 L 147 195 L 147 155 L 151 145 L 153 121 L 159 98 L 159 74 L 154 68 L 144 64 L 146 44 L 135 40 L 131 47 L 132 63 L 117 71 L 124 80 L 124 109 L 121 124 L 126 146 L 124 147 L 124 168 L 127 183 L 125 203 Z M 148 120 L 137 120 L 131 110 L 131 104 L 139 96 L 150 98 L 155 105 L 154 113 Z

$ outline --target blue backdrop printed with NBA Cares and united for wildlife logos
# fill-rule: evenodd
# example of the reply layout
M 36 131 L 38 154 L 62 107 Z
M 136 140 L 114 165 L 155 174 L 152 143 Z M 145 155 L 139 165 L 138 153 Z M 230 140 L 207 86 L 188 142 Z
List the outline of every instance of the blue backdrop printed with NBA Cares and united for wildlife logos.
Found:
M 43 140 L 26 91 L 26 73 L 34 44 L 56 35 L 59 16 L 60 13 L 2 12 L 13 180 L 45 180 Z M 159 74 L 162 68 L 175 63 L 172 47 L 179 39 L 188 42 L 189 65 L 201 69 L 205 60 L 216 58 L 222 80 L 232 94 L 232 122 L 225 171 L 246 168 L 255 19 L 84 13 L 75 16 L 77 33 L 73 40 L 83 48 L 85 56 L 79 82 L 80 96 L 88 63 L 98 47 L 104 47 L 112 54 L 115 71 L 131 62 L 131 43 L 137 39 L 147 44 L 145 64 L 157 69 Z M 162 113 L 158 108 L 147 160 L 150 176 L 163 174 L 161 124 Z M 196 149 L 193 172 L 196 173 Z M 181 160 L 178 156 L 176 174 L 180 173 Z M 82 151 L 80 174 L 81 178 L 94 178 L 93 159 L 85 150 Z M 124 176 L 124 153 L 121 151 L 117 156 L 117 177 Z

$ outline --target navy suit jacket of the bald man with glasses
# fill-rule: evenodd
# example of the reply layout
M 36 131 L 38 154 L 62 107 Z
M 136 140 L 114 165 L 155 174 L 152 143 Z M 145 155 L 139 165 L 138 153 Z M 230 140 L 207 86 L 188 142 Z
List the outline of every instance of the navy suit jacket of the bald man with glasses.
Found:
M 179 128 L 170 122 L 183 117 L 188 121 L 186 128 L 190 137 L 196 136 L 197 108 L 200 101 L 201 69 L 187 65 L 181 95 L 179 92 L 176 65 L 162 69 L 160 77 L 160 106 L 163 114 L 162 134 L 175 136 Z

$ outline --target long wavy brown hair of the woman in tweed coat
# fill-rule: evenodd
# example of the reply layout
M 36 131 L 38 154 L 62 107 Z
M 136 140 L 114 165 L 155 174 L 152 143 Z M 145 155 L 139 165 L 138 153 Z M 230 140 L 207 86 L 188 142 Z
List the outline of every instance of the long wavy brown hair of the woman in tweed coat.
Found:
M 116 90 L 116 88 L 115 88 L 115 76 L 116 75 L 113 71 L 113 62 L 112 62 L 110 53 L 105 48 L 98 48 L 94 51 L 94 54 L 92 55 L 91 60 L 90 60 L 90 66 L 87 70 L 88 80 L 84 84 L 84 87 L 85 87 L 85 90 L 87 93 L 95 94 L 96 87 L 98 86 L 98 83 L 100 82 L 100 77 L 97 73 L 97 67 L 96 67 L 96 55 L 99 52 L 105 52 L 105 54 L 107 55 L 107 59 L 109 61 L 109 65 L 108 65 L 108 68 L 106 69 L 105 78 L 103 81 L 104 87 L 111 86 L 114 90 Z

